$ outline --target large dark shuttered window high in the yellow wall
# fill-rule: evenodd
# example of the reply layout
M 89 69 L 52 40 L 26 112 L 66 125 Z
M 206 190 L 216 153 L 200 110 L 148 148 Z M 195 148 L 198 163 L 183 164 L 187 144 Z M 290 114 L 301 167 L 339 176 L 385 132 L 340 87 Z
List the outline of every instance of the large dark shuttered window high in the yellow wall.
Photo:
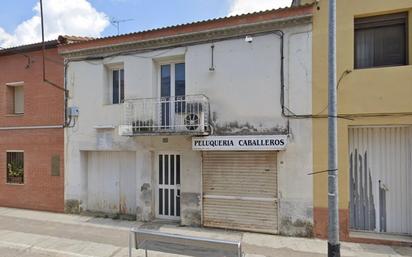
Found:
M 408 64 L 407 13 L 355 19 L 355 68 Z

